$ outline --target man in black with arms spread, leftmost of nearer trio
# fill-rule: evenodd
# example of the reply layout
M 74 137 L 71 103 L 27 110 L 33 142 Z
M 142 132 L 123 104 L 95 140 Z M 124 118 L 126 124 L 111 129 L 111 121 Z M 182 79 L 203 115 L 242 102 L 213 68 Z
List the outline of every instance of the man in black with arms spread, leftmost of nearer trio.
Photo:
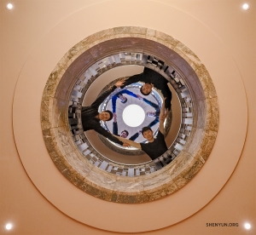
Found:
M 100 135 L 105 136 L 108 140 L 111 140 L 120 146 L 127 146 L 121 140 L 118 140 L 116 137 L 111 135 L 108 130 L 102 128 L 100 121 L 110 121 L 113 118 L 113 113 L 110 111 L 98 112 L 99 106 L 102 102 L 110 95 L 114 89 L 119 88 L 124 83 L 124 80 L 121 79 L 119 82 L 115 83 L 112 88 L 105 91 L 100 95 L 91 106 L 82 107 L 81 117 L 84 131 L 94 129 Z

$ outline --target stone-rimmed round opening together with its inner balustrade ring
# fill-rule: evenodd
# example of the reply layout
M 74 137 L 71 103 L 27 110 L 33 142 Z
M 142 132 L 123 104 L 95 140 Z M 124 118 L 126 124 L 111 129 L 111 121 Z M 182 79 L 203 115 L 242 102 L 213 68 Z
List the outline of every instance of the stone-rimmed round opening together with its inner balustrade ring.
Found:
M 217 95 L 211 77 L 195 54 L 172 37 L 166 38 L 162 44 L 154 37 L 126 38 L 117 33 L 114 39 L 92 47 L 84 46 L 90 42 L 90 37 L 85 38 L 49 76 L 41 112 L 45 144 L 61 173 L 84 192 L 118 203 L 152 201 L 184 186 L 207 160 L 218 131 Z M 197 58 L 201 66 L 196 72 L 183 59 L 183 51 Z M 90 84 L 108 69 L 131 63 L 166 77 L 177 92 L 183 113 L 177 138 L 168 151 L 140 165 L 113 163 L 96 152 L 84 135 L 80 116 Z M 45 100 L 50 106 L 44 106 Z M 132 180 L 138 176 L 139 184 Z

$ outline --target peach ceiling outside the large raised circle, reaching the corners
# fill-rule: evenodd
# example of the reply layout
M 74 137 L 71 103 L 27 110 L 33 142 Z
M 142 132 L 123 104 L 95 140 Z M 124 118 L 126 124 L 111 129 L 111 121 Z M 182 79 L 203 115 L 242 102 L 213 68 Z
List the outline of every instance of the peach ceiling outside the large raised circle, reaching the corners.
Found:
M 15 148 L 15 140 L 12 130 L 12 103 L 15 94 L 15 84 L 19 78 L 22 66 L 26 63 L 32 50 L 37 47 L 39 41 L 44 41 L 44 35 L 49 32 L 58 22 L 65 19 L 69 14 L 82 9 L 90 4 L 103 1 L 14 1 L 15 9 L 11 12 L 4 9 L 6 1 L 1 1 L 1 232 L 3 224 L 6 221 L 14 221 L 15 230 L 13 234 L 113 234 L 86 226 L 74 221 L 67 215 L 62 214 L 49 201 L 47 201 L 37 188 L 32 184 L 26 171 L 20 163 L 19 155 Z M 110 1 L 112 2 L 112 1 Z M 126 1 L 124 1 L 126 2 Z M 137 1 L 142 2 L 142 1 Z M 147 1 L 145 1 L 146 3 Z M 149 1 L 150 2 L 150 1 Z M 242 1 L 158 1 L 157 4 L 166 8 L 165 4 L 181 9 L 183 12 L 192 15 L 196 20 L 201 21 L 220 38 L 224 49 L 228 50 L 236 61 L 237 68 L 241 73 L 248 105 L 248 128 L 247 138 L 241 153 L 241 158 L 236 166 L 230 180 L 225 184 L 218 195 L 212 199 L 203 209 L 192 215 L 187 220 L 179 222 L 176 225 L 164 229 L 145 232 L 145 234 L 243 234 L 243 221 L 251 221 L 255 226 L 255 1 L 248 12 L 241 11 Z M 31 3 L 31 4 L 30 4 Z M 164 3 L 164 4 L 161 4 Z M 156 4 L 156 3 L 155 3 Z M 218 5 L 220 4 L 220 5 Z M 150 15 L 159 15 L 153 8 L 146 6 L 144 11 Z M 121 5 L 116 6 L 121 12 Z M 88 14 L 97 14 L 96 12 Z M 47 17 L 45 17 L 47 15 Z M 124 17 L 136 17 L 132 14 Z M 100 16 L 99 16 L 100 19 Z M 118 19 L 115 19 L 118 20 Z M 173 19 L 175 20 L 175 19 Z M 147 20 L 143 20 L 145 26 Z M 88 32 L 99 31 L 94 28 L 93 22 L 88 24 Z M 104 19 L 102 27 L 104 28 Z M 139 22 L 138 22 L 139 24 Z M 168 22 L 166 22 L 168 24 Z M 115 25 L 115 24 L 113 24 Z M 139 24 L 141 25 L 141 24 Z M 144 25 L 143 25 L 144 26 Z M 177 27 L 179 22 L 177 22 Z M 162 31 L 163 26 L 155 20 L 155 29 Z M 228 30 L 227 30 L 228 29 Z M 187 40 L 183 41 L 189 47 L 189 33 Z M 65 32 L 63 28 L 63 37 L 68 37 L 72 32 Z M 176 37 L 176 35 L 172 35 Z M 43 38 L 43 39 L 42 39 Z M 50 40 L 50 38 L 48 38 Z M 79 41 L 81 38 L 78 38 Z M 67 41 L 63 40 L 63 43 Z M 47 42 L 47 43 L 50 43 Z M 62 42 L 60 42 L 61 44 Z M 199 42 L 200 43 L 200 42 Z M 52 45 L 55 50 L 60 51 L 62 47 L 67 49 L 73 46 L 72 43 Z M 202 48 L 203 50 L 207 50 Z M 41 51 L 44 54 L 44 51 Z M 205 55 L 201 53 L 202 55 Z M 211 49 L 206 57 L 200 57 L 203 62 L 212 60 L 214 49 Z M 199 55 L 199 54 L 198 54 Z M 39 55 L 40 56 L 40 55 Z M 45 54 L 44 54 L 45 56 Z M 60 57 L 55 54 L 49 54 L 50 57 L 58 61 Z M 32 58 L 30 58 L 32 60 Z M 215 58 L 218 60 L 218 58 Z M 49 66 L 45 61 L 45 66 Z M 55 65 L 52 65 L 52 68 Z M 222 71 L 223 74 L 229 73 Z M 38 73 L 44 73 L 44 65 Z M 46 72 L 47 74 L 47 72 Z M 35 74 L 35 83 L 37 74 Z M 29 89 L 29 88 L 27 88 Z M 223 89 L 234 89 L 230 87 Z M 41 94 L 38 94 L 40 99 Z M 32 102 L 27 97 L 27 102 Z M 234 106 L 230 106 L 230 122 L 236 118 L 236 104 L 239 103 L 239 97 L 234 100 Z M 27 112 L 27 115 L 33 115 L 26 106 L 20 107 L 20 110 Z M 27 131 L 33 131 L 33 126 L 24 123 Z M 234 127 L 236 128 L 236 127 Z M 41 138 L 41 137 L 39 137 Z M 228 143 L 228 141 L 227 141 Z M 232 143 L 223 143 L 224 148 L 233 148 Z M 33 143 L 31 143 L 33 144 Z M 29 156 L 31 161 L 38 156 Z M 223 156 L 224 157 L 224 156 Z M 42 175 L 44 177 L 44 175 Z M 218 172 L 216 174 L 218 178 Z M 45 170 L 45 179 L 47 179 L 47 170 Z M 189 183 L 190 184 L 190 183 Z M 193 181 L 191 181 L 193 184 Z M 47 185 L 46 185 L 47 186 Z M 209 187 L 210 188 L 210 187 Z M 208 189 L 206 189 L 208 190 Z M 54 192 L 52 192 L 54 194 Z M 201 195 L 200 199 L 203 199 Z M 190 195 L 187 195 L 189 200 Z M 61 200 L 61 198 L 59 198 Z M 160 201 L 161 202 L 161 201 Z M 194 202 L 191 202 L 191 207 Z M 72 207 L 72 204 L 70 204 Z M 183 208 L 181 208 L 183 209 Z M 111 215 L 111 212 L 109 212 Z M 172 214 L 172 211 L 167 212 Z M 154 216 L 154 212 L 152 212 Z M 119 216 L 116 216 L 117 220 Z M 143 218 L 142 218 L 143 220 Z M 120 221 L 117 221 L 120 223 Z M 239 227 L 207 227 L 207 222 L 238 222 Z M 255 231 L 254 231 L 255 232 Z M 11 233 L 11 232 L 10 232 Z M 253 231 L 248 232 L 253 234 Z M 114 232 L 114 234 L 117 234 Z

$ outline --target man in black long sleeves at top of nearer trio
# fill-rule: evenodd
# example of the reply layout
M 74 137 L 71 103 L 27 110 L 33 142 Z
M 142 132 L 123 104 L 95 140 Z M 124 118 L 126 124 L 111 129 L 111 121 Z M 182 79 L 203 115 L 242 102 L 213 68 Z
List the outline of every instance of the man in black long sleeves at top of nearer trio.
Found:
M 160 73 L 155 72 L 152 69 L 144 67 L 143 73 L 129 77 L 127 80 L 125 80 L 125 83 L 123 86 L 121 86 L 121 88 L 124 88 L 125 86 L 130 85 L 131 83 L 137 82 L 145 83 L 141 88 L 141 93 L 143 95 L 149 95 L 153 87 L 156 89 L 160 89 L 160 91 L 166 98 L 166 111 L 168 112 L 171 110 L 172 92 L 167 85 L 168 81 L 166 80 L 165 77 L 163 77 L 162 75 L 160 75 Z

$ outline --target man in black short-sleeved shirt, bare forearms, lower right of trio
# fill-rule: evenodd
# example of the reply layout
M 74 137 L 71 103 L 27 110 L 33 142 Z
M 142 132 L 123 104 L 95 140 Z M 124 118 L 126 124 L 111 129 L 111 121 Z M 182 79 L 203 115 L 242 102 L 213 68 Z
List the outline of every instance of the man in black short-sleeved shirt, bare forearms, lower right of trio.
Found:
M 126 140 L 125 138 L 116 136 L 119 140 L 126 142 L 131 146 L 135 146 L 138 149 L 142 149 L 148 154 L 148 156 L 154 160 L 155 158 L 160 157 L 167 151 L 166 141 L 164 137 L 164 122 L 166 119 L 165 106 L 161 107 L 160 111 L 160 124 L 158 135 L 154 139 L 153 131 L 149 127 L 144 127 L 142 130 L 143 137 L 148 140 L 148 143 L 137 143 L 132 140 Z

